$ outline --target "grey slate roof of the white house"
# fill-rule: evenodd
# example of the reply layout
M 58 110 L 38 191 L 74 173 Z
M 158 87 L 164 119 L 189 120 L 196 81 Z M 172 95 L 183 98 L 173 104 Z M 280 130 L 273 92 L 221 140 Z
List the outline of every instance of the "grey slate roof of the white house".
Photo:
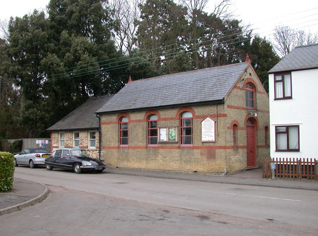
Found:
M 294 48 L 268 73 L 318 68 L 318 44 Z

